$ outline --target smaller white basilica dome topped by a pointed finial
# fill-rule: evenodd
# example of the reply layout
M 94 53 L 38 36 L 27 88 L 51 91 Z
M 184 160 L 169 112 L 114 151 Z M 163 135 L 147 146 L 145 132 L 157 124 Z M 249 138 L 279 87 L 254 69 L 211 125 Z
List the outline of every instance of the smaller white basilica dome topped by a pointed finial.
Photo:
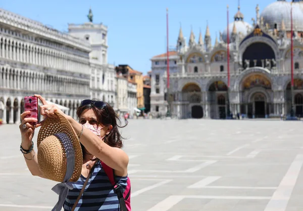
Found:
M 243 19 L 244 16 L 240 12 L 240 7 L 238 7 L 238 12 L 234 16 L 234 22 L 228 24 L 229 38 L 231 37 L 231 34 L 234 30 L 234 26 L 236 33 L 241 33 L 243 36 L 247 35 L 247 30 L 249 31 L 250 29 L 252 29 L 252 26 L 249 23 L 243 21 Z M 224 42 L 227 42 L 227 27 L 223 31 L 222 39 Z

